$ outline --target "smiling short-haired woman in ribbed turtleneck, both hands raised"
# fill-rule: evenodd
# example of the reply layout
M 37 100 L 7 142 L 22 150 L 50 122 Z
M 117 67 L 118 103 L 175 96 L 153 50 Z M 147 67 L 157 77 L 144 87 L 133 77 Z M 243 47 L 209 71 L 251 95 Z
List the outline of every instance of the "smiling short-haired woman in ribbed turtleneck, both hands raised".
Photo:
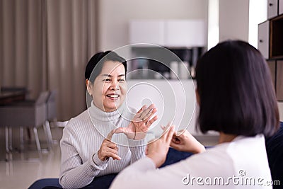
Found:
M 145 156 L 146 132 L 157 120 L 152 118 L 157 109 L 144 105 L 135 116 L 127 109 L 126 72 L 127 62 L 115 52 L 99 52 L 89 60 L 85 76 L 91 106 L 69 120 L 60 141 L 63 188 L 82 188 Z

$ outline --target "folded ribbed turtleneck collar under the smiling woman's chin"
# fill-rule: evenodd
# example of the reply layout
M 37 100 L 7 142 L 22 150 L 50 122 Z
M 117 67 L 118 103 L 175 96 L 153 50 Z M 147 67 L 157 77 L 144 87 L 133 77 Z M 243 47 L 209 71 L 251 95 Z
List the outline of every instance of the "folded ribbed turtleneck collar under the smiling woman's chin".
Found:
M 115 121 L 119 119 L 121 116 L 125 115 L 125 103 L 122 103 L 120 108 L 117 110 L 107 113 L 103 110 L 100 110 L 96 105 L 94 105 L 93 101 L 91 101 L 91 107 L 88 108 L 88 113 L 91 116 L 91 118 L 103 122 L 109 122 L 109 121 Z

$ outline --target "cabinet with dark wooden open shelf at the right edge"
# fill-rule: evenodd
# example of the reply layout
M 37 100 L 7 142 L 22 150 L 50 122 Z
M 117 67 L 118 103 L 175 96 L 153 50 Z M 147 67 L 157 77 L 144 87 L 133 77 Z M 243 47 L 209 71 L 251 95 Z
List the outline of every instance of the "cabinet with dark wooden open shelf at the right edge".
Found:
M 258 25 L 258 50 L 270 67 L 277 101 L 283 101 L 283 0 L 268 0 L 267 15 Z

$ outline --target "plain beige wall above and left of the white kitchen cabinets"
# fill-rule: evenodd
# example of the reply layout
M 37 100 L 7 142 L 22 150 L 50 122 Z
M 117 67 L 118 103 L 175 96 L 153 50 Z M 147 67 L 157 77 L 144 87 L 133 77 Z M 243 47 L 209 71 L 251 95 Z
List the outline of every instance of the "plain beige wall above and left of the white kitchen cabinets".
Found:
M 129 44 L 131 19 L 190 19 L 207 21 L 208 0 L 100 0 L 98 49 Z

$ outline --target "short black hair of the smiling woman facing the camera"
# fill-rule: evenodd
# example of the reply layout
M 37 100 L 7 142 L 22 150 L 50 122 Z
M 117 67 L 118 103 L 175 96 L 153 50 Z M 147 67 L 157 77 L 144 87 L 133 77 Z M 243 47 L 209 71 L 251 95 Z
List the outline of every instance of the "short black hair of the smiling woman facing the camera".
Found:
M 107 61 L 121 62 L 125 67 L 125 74 L 127 73 L 127 61 L 117 55 L 116 52 L 108 50 L 105 52 L 98 52 L 89 59 L 84 73 L 85 78 L 93 83 L 93 81 L 96 80 L 96 77 L 101 73 L 103 63 Z

